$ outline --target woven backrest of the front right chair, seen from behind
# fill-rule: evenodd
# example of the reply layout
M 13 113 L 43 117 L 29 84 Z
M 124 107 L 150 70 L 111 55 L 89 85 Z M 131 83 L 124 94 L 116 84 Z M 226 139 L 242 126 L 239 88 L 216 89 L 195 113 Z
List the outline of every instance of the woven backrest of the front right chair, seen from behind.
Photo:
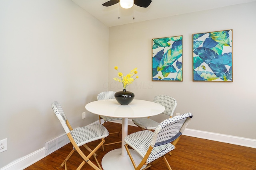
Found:
M 151 147 L 164 145 L 177 139 L 182 135 L 192 117 L 192 113 L 185 113 L 162 121 L 154 131 Z

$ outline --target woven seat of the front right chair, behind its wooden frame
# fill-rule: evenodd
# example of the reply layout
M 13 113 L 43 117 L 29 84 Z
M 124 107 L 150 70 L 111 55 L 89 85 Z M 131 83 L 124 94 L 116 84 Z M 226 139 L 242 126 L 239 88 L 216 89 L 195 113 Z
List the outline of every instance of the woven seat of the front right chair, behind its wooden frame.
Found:
M 159 123 L 158 123 L 159 124 Z M 125 143 L 127 143 L 132 149 L 136 150 L 142 158 L 146 155 L 148 151 L 148 147 L 152 141 L 152 137 L 154 132 L 149 130 L 138 131 L 132 133 L 124 138 Z M 167 143 L 165 145 L 155 146 L 150 153 L 146 163 L 150 163 L 157 158 L 165 155 L 166 153 L 173 150 L 175 147 L 171 143 Z

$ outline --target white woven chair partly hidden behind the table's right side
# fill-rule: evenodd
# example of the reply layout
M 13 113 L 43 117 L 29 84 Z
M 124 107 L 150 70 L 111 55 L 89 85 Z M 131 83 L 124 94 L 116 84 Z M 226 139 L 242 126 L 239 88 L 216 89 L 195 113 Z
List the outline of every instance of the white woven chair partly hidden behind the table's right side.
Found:
M 176 109 L 177 102 L 174 98 L 167 96 L 167 95 L 158 95 L 154 97 L 153 102 L 161 104 L 164 106 L 164 112 L 163 114 L 168 115 L 172 117 L 174 110 Z M 154 130 L 159 125 L 158 122 L 150 119 L 149 117 L 142 117 L 142 118 L 136 118 L 132 119 L 133 123 L 140 127 L 142 130 Z

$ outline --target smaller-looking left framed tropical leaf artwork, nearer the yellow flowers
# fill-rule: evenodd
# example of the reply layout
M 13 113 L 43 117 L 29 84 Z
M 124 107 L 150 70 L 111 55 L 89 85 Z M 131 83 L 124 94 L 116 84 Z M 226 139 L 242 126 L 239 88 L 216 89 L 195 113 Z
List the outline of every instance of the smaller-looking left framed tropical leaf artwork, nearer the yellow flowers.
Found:
M 182 35 L 152 39 L 152 80 L 182 81 Z

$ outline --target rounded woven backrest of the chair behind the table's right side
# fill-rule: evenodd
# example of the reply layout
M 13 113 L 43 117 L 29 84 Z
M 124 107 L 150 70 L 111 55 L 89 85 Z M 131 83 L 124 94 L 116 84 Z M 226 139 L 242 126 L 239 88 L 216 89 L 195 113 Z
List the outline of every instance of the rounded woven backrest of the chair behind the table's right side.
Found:
M 161 104 L 164 106 L 164 112 L 163 114 L 172 116 L 174 113 L 174 110 L 176 109 L 177 102 L 174 98 L 167 95 L 158 95 L 154 97 L 153 102 Z

